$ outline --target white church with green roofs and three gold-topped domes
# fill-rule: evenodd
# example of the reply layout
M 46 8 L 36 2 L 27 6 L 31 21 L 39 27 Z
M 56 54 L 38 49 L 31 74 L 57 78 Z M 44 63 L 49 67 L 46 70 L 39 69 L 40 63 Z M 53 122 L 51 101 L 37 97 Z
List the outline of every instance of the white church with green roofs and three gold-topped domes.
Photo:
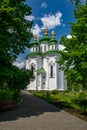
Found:
M 64 71 L 59 69 L 56 62 L 59 59 L 58 51 L 63 49 L 58 44 L 55 33 L 52 31 L 51 38 L 48 36 L 48 29 L 44 29 L 44 36 L 37 41 L 37 35 L 34 35 L 34 41 L 30 48 L 30 53 L 26 57 L 26 69 L 34 73 L 34 79 L 31 79 L 27 90 L 66 90 L 67 80 Z

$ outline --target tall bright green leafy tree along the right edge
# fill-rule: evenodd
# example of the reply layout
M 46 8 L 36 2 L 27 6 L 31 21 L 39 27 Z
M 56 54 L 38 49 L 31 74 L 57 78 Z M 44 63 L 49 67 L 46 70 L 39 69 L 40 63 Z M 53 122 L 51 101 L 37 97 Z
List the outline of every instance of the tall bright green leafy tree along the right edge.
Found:
M 71 23 L 72 38 L 66 36 L 61 38 L 60 43 L 66 48 L 60 51 L 58 62 L 73 85 L 78 84 L 87 88 L 87 3 L 73 1 L 76 2 L 74 10 L 76 22 Z

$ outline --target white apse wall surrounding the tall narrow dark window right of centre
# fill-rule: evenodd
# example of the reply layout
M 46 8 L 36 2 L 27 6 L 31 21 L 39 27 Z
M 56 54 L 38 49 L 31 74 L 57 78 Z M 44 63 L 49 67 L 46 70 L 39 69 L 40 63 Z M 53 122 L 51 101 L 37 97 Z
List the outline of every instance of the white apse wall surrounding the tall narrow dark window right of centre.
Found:
M 55 63 L 56 59 L 55 56 L 46 56 L 43 59 L 43 68 L 45 68 L 46 70 L 46 89 L 49 90 L 53 90 L 53 89 L 57 89 L 57 81 L 56 78 L 57 76 L 57 67 L 56 67 L 56 63 Z M 53 64 L 53 78 L 50 77 L 50 66 L 51 64 Z

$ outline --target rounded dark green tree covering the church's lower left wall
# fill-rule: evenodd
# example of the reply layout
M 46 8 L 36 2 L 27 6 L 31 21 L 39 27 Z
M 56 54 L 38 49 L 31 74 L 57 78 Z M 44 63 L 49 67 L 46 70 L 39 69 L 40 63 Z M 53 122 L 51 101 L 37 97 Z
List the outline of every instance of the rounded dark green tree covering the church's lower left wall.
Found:
M 7 87 L 14 91 L 14 98 L 19 94 L 20 90 L 24 89 L 30 83 L 31 78 L 33 78 L 33 73 L 30 70 L 20 70 L 16 66 L 10 68 Z

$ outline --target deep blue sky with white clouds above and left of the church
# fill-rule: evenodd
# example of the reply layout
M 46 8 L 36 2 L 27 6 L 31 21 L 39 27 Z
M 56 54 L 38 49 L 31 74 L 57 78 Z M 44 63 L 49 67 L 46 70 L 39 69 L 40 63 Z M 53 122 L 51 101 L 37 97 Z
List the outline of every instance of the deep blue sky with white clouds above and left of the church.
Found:
M 70 34 L 69 22 L 75 22 L 75 6 L 70 0 L 27 0 L 26 4 L 31 6 L 31 16 L 25 16 L 27 20 L 33 20 L 32 33 L 38 35 L 38 39 L 43 36 L 43 28 L 47 27 L 49 37 L 52 30 L 56 33 L 56 39 L 60 41 L 61 36 Z M 21 54 L 15 65 L 21 68 L 24 65 L 24 59 L 29 53 Z

